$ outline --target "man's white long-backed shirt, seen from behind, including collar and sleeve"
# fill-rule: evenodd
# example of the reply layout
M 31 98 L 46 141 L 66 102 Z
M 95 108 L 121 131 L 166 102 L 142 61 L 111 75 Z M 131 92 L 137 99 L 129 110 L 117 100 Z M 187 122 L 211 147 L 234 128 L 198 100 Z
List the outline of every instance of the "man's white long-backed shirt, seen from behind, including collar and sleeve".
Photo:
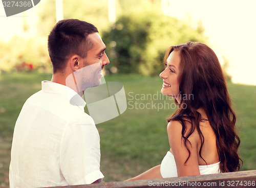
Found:
M 100 138 L 86 103 L 71 88 L 42 81 L 15 124 L 10 187 L 90 184 L 100 172 Z

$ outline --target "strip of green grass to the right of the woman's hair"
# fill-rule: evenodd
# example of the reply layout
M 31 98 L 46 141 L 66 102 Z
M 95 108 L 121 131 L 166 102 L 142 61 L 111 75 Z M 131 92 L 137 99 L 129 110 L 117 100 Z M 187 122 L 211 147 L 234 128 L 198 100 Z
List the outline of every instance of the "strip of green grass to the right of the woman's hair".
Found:
M 256 169 L 256 86 L 229 84 L 241 138 L 242 170 Z

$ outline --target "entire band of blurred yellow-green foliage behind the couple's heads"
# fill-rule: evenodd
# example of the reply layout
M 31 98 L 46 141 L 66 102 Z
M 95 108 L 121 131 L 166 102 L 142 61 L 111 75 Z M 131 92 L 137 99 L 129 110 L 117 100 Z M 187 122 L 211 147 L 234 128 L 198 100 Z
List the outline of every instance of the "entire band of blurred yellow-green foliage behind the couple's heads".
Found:
M 107 46 L 111 64 L 107 73 L 138 73 L 158 75 L 162 59 L 170 45 L 187 41 L 207 42 L 202 24 L 191 19 L 178 20 L 166 16 L 160 0 L 116 0 L 116 23 L 108 19 L 108 1 L 65 0 L 63 18 L 77 18 L 93 23 Z M 47 36 L 56 23 L 55 1 L 38 4 L 36 36 L 28 36 L 30 26 L 24 21 L 25 38 L 15 36 L 0 52 L 1 72 L 51 72 Z

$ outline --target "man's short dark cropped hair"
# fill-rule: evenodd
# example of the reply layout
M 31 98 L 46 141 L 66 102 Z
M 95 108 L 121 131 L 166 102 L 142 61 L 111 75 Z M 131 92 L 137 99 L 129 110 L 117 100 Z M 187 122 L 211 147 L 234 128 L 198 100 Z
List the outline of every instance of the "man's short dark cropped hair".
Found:
M 98 33 L 98 29 L 86 21 L 63 19 L 56 23 L 48 36 L 53 73 L 63 72 L 72 55 L 87 56 L 87 52 L 93 48 L 93 43 L 88 39 L 92 33 Z

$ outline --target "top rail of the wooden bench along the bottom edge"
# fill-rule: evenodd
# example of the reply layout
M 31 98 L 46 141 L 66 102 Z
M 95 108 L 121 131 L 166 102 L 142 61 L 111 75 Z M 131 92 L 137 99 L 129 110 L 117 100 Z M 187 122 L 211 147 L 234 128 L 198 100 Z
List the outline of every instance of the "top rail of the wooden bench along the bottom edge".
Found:
M 163 179 L 105 182 L 55 188 L 256 187 L 256 170 Z

